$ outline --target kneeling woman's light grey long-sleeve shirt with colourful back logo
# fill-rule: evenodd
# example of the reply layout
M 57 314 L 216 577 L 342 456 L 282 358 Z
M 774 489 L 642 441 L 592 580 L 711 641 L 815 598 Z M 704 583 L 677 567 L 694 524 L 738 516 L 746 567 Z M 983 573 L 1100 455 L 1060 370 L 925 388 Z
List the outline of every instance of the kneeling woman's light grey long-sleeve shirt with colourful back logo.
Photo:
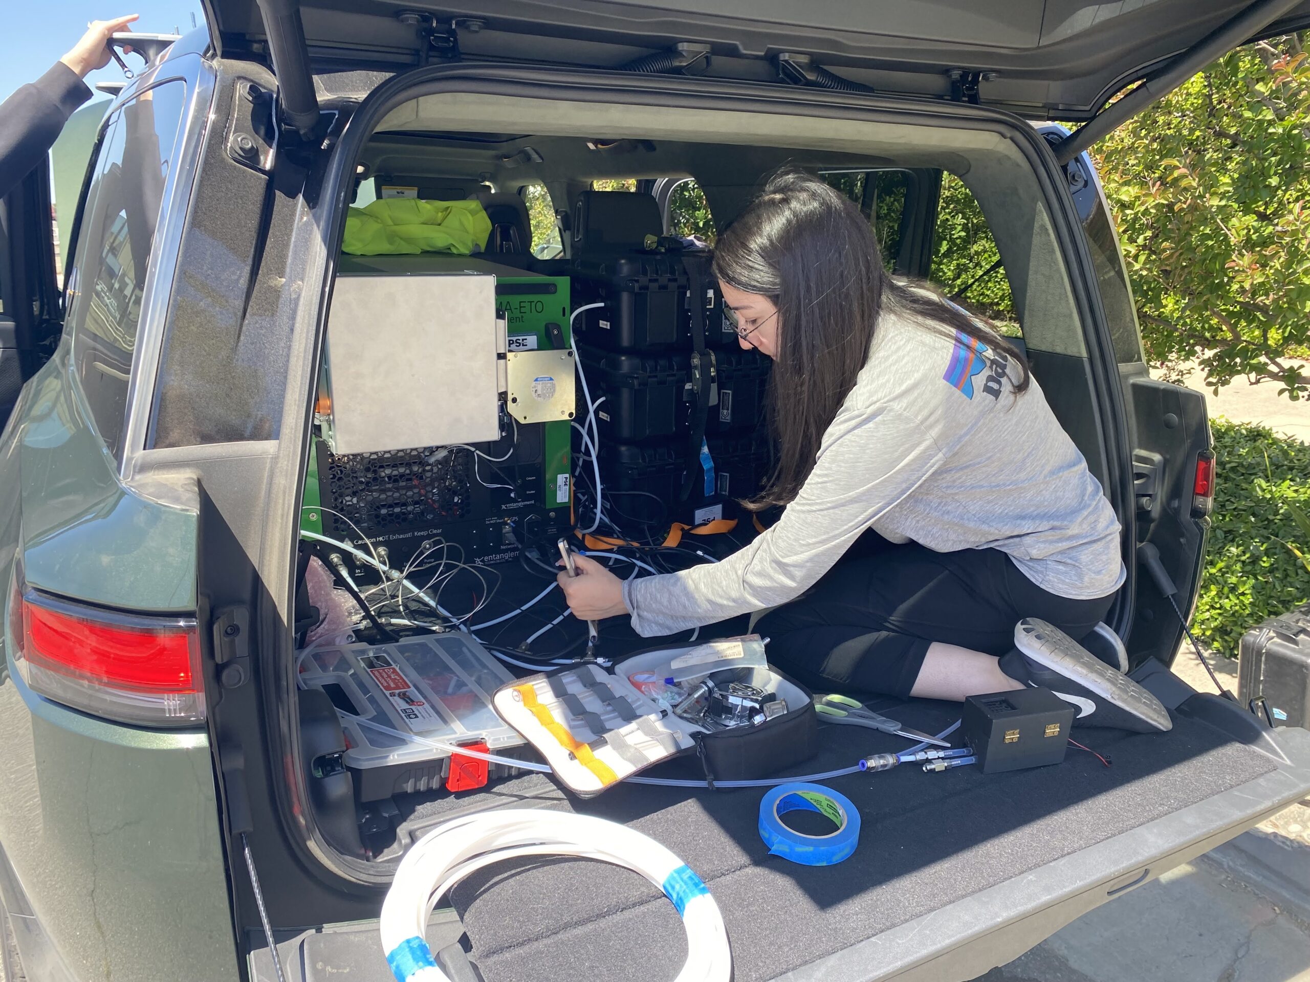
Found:
M 633 630 L 672 634 L 794 600 L 866 529 L 938 553 L 1000 549 L 1043 589 L 1125 577 L 1119 521 L 1036 381 L 963 334 L 884 310 L 869 360 L 782 517 L 720 563 L 624 583 Z

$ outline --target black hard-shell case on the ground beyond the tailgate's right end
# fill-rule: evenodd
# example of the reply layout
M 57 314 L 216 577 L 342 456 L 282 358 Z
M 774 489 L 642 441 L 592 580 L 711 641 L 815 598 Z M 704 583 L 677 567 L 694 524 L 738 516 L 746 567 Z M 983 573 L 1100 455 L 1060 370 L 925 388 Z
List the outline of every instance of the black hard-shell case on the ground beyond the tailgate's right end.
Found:
M 1310 728 L 1310 604 L 1242 635 L 1238 698 L 1269 725 Z

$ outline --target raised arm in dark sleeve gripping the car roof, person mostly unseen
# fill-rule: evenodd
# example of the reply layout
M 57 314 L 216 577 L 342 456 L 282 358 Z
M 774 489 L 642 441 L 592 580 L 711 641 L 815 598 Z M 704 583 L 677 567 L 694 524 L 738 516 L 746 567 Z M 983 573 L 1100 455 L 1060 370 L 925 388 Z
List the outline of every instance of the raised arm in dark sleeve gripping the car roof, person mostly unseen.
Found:
M 59 132 L 90 89 L 83 79 L 109 64 L 109 37 L 136 14 L 89 25 L 81 41 L 41 79 L 0 103 L 0 198 L 9 194 L 54 145 Z

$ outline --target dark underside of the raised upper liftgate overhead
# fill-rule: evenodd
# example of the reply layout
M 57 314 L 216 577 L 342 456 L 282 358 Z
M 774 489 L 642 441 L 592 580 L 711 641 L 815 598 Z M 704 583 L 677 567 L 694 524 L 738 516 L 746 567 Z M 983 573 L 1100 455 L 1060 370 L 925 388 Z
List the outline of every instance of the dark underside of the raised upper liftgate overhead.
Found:
M 265 51 L 261 4 L 206 0 L 221 54 Z M 772 65 L 779 54 L 799 52 L 880 92 L 967 94 L 1064 120 L 1090 117 L 1243 10 L 1271 10 L 1258 21 L 1259 37 L 1310 21 L 1305 0 L 1277 9 L 1250 0 L 304 0 L 299 7 L 317 63 L 421 64 L 451 51 L 453 37 L 453 50 L 466 58 L 614 68 L 692 43 L 710 47 L 711 73 L 751 77 L 751 62 Z M 753 76 L 777 77 L 772 67 Z

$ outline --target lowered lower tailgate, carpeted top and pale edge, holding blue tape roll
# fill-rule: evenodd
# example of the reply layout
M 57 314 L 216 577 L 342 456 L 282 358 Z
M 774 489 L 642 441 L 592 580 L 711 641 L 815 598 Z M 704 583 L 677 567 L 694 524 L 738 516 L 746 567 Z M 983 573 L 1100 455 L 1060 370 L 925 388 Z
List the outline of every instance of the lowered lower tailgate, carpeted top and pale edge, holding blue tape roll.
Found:
M 897 712 L 931 732 L 951 719 L 945 704 Z M 760 790 L 625 786 L 578 801 L 529 775 L 483 796 L 624 821 L 672 848 L 723 910 L 736 982 L 948 982 L 1010 961 L 1310 792 L 1310 732 L 1271 732 L 1213 695 L 1186 699 L 1174 719 L 1169 735 L 1079 731 L 1108 767 L 1070 748 L 1062 765 L 1010 774 L 905 766 L 833 779 L 862 817 L 859 847 L 834 867 L 768 855 L 756 831 Z M 897 749 L 878 733 L 824 733 L 807 770 L 849 765 L 853 741 L 859 753 Z M 406 831 L 421 835 L 468 804 L 434 803 Z M 685 957 L 663 894 L 579 860 L 500 864 L 458 885 L 428 940 L 436 949 L 465 932 L 487 982 L 673 978 Z M 249 941 L 257 977 L 271 978 L 262 937 Z M 390 978 L 375 922 L 288 935 L 280 948 L 293 978 Z

